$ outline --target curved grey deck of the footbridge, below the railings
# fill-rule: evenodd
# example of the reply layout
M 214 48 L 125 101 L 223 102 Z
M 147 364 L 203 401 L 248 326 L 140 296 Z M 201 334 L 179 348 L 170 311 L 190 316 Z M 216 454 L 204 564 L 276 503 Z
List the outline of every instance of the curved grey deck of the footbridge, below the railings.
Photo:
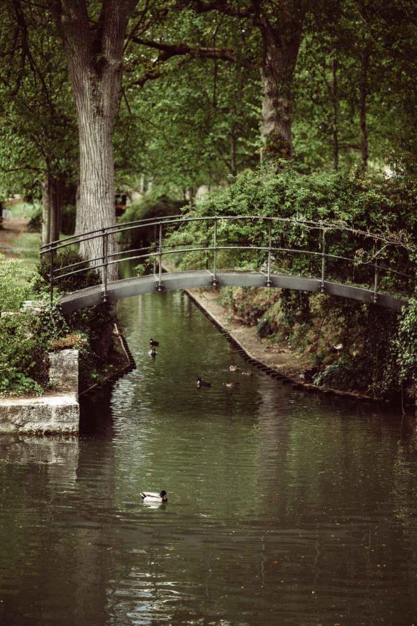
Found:
M 237 287 L 265 287 L 266 275 L 263 272 L 216 272 L 215 279 L 219 286 Z M 213 273 L 207 269 L 188 272 L 167 272 L 161 276 L 163 291 L 176 289 L 194 289 L 197 287 L 211 287 Z M 309 279 L 302 276 L 287 276 L 284 274 L 271 274 L 271 287 L 295 289 L 300 291 L 310 291 L 318 293 L 321 290 L 319 279 Z M 136 278 L 122 279 L 107 285 L 108 302 L 128 298 L 144 293 L 153 293 L 158 288 L 158 276 L 139 276 Z M 355 287 L 354 285 L 343 285 L 331 281 L 324 282 L 323 292 L 329 295 L 336 295 L 360 302 L 374 302 L 374 292 L 372 290 Z M 67 294 L 60 299 L 64 313 L 78 311 L 85 306 L 93 306 L 103 301 L 104 290 L 102 285 L 95 285 L 76 292 Z M 385 308 L 400 309 L 405 300 L 393 298 L 389 295 L 377 293 L 377 304 Z

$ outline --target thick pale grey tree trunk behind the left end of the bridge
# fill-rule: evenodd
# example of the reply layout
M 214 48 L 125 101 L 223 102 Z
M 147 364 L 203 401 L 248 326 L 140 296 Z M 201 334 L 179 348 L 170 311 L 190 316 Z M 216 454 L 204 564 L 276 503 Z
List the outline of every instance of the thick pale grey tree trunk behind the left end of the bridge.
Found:
M 97 22 L 86 0 L 49 0 L 63 38 L 79 126 L 77 234 L 115 223 L 113 123 L 120 100 L 124 37 L 137 0 L 102 0 Z M 113 237 L 108 253 L 115 252 Z M 81 244 L 80 253 L 99 263 L 100 239 Z M 108 279 L 117 277 L 111 265 Z

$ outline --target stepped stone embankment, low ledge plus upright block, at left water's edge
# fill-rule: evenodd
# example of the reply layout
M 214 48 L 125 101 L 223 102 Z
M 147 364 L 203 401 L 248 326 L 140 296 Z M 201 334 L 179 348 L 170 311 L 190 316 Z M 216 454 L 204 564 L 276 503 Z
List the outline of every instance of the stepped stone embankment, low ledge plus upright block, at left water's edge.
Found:
M 0 433 L 76 435 L 79 432 L 79 352 L 49 354 L 51 392 L 0 400 Z

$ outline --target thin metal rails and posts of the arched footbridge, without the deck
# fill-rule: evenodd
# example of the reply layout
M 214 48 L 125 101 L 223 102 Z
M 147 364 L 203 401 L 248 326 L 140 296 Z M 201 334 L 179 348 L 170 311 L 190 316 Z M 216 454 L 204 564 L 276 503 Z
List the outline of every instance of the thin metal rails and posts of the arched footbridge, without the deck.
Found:
M 176 226 L 177 224 L 186 226 L 193 222 L 201 222 L 206 221 L 213 224 L 213 230 L 210 230 L 210 240 L 211 244 L 208 244 L 208 240 L 206 241 L 206 245 L 198 245 L 197 242 L 179 242 L 176 244 L 168 244 L 163 245 L 163 228 L 166 226 Z M 266 244 L 263 245 L 243 245 L 243 244 L 224 244 L 224 242 L 218 240 L 218 226 L 222 221 L 249 221 L 252 224 L 261 223 L 263 225 L 267 225 L 268 229 L 265 228 L 265 233 L 263 234 L 264 240 L 266 240 Z M 274 237 L 275 233 L 273 233 L 272 226 L 273 224 L 290 224 L 291 226 L 302 227 L 307 230 L 307 232 L 311 232 L 312 230 L 318 230 L 320 237 L 318 237 L 318 251 L 316 250 L 308 250 L 298 247 L 283 247 L 274 245 Z M 135 230 L 138 228 L 149 228 L 155 227 L 155 242 L 152 245 L 126 250 L 126 251 L 109 251 L 108 250 L 108 237 L 112 235 L 116 235 L 117 233 L 122 233 L 128 230 Z M 334 254 L 330 251 L 327 251 L 327 242 L 328 242 L 328 233 L 329 232 L 338 231 L 341 233 L 349 233 L 355 235 L 356 237 L 362 237 L 365 240 L 373 241 L 373 251 L 371 251 L 372 258 L 366 260 L 366 258 L 360 258 L 358 256 L 354 256 L 354 258 L 345 257 L 342 255 Z M 157 232 L 158 237 L 157 237 Z M 178 230 L 177 230 L 178 232 Z M 165 231 L 166 233 L 166 231 Z M 285 230 L 284 230 L 285 233 Z M 282 234 L 282 233 L 281 233 Z M 75 263 L 69 263 L 67 265 L 61 267 L 54 267 L 54 255 L 60 249 L 64 249 L 74 244 L 81 244 L 83 242 L 88 242 L 90 240 L 101 240 L 101 254 L 94 258 L 90 258 L 88 260 L 80 260 Z M 239 239 L 239 237 L 238 237 Z M 378 251 L 375 250 L 376 242 L 381 242 L 381 249 Z M 197 246 L 195 245 L 197 243 Z M 234 242 L 233 242 L 234 243 Z M 184 247 L 188 246 L 188 247 Z M 192 247 L 189 247 L 192 246 Z M 272 257 L 275 253 L 290 253 L 290 254 L 302 254 L 303 256 L 310 256 L 321 258 L 321 289 L 324 291 L 325 289 L 325 260 L 326 259 L 334 259 L 341 260 L 343 262 L 352 263 L 353 265 L 371 265 L 374 270 L 374 299 L 375 302 L 377 300 L 377 285 L 378 285 L 378 276 L 381 272 L 387 272 L 390 274 L 395 274 L 397 276 L 402 276 L 405 279 L 415 279 L 415 276 L 410 276 L 409 274 L 405 274 L 404 272 L 400 272 L 398 269 L 393 269 L 391 267 L 385 267 L 384 265 L 380 265 L 379 255 L 386 249 L 387 247 L 395 246 L 397 249 L 404 249 L 407 253 L 416 252 L 414 247 L 411 247 L 407 242 L 402 241 L 400 238 L 391 237 L 389 235 L 375 235 L 374 233 L 370 233 L 369 231 L 361 230 L 358 228 L 350 228 L 346 226 L 340 221 L 335 222 L 327 222 L 327 221 L 313 221 L 306 219 L 297 219 L 297 218 L 288 218 L 288 217 L 271 217 L 271 216 L 263 216 L 263 215 L 210 215 L 210 216 L 166 216 L 158 219 L 147 218 L 132 221 L 127 224 L 113 224 L 112 226 L 108 226 L 106 228 L 97 228 L 96 230 L 90 230 L 86 233 L 82 233 L 81 235 L 72 235 L 67 237 L 62 241 L 55 241 L 49 244 L 44 244 L 40 251 L 41 256 L 49 254 L 50 256 L 50 289 L 51 289 L 51 300 L 53 299 L 54 292 L 54 283 L 60 279 L 63 279 L 68 276 L 73 276 L 75 274 L 81 274 L 82 272 L 88 271 L 92 267 L 94 269 L 100 269 L 102 274 L 102 285 L 104 297 L 106 297 L 107 293 L 107 282 L 108 282 L 108 267 L 113 265 L 117 265 L 117 263 L 121 263 L 122 261 L 130 261 L 130 260 L 140 260 L 140 259 L 152 259 L 154 263 L 154 274 L 156 276 L 156 263 L 158 262 L 158 288 L 161 288 L 162 284 L 162 258 L 163 256 L 170 254 L 183 254 L 190 252 L 211 252 L 213 253 L 213 285 L 217 283 L 216 281 L 216 269 L 217 269 L 217 256 L 219 251 L 262 251 L 266 252 L 267 256 L 263 263 L 267 264 L 267 272 L 266 272 L 266 285 L 271 286 L 272 281 L 270 279 L 271 276 L 271 265 L 272 262 L 275 261 L 275 258 Z M 170 248 L 170 249 L 168 249 Z M 172 248 L 172 249 L 171 249 Z M 362 249 L 360 249 L 362 250 Z M 145 252 L 142 254 L 135 254 L 131 256 L 132 253 L 136 252 Z M 355 254 L 357 253 L 357 250 Z M 126 256 L 127 255 L 127 256 Z M 208 262 L 208 257 L 207 257 Z M 68 270 L 72 270 L 68 272 Z M 327 270 L 328 272 L 328 270 Z

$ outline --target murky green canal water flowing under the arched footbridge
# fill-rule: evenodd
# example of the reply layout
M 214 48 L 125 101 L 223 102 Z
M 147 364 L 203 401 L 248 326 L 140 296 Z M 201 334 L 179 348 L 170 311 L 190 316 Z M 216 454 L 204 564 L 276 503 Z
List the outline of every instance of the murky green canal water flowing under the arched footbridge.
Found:
M 137 369 L 81 437 L 0 439 L 0 624 L 414 624 L 416 418 L 230 373 L 181 293 L 119 318 Z

